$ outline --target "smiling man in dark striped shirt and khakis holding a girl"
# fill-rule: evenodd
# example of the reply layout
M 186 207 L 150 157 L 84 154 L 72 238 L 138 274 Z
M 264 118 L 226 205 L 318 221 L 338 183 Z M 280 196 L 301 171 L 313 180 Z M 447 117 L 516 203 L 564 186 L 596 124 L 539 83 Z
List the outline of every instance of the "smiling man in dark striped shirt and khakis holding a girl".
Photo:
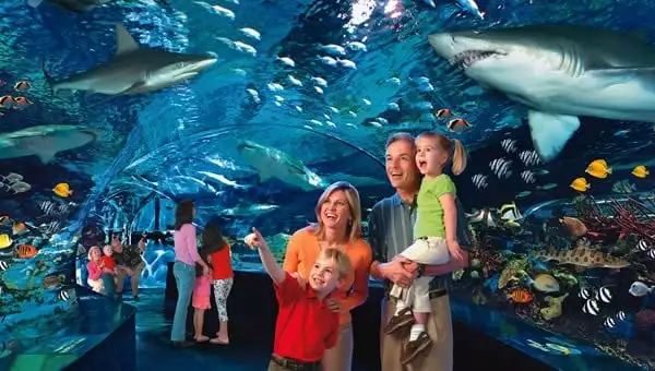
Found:
M 407 334 L 384 334 L 380 332 L 382 371 L 451 371 L 453 369 L 453 336 L 450 301 L 446 282 L 449 275 L 468 265 L 468 253 L 463 259 L 452 259 L 443 265 L 422 266 L 396 255 L 414 240 L 413 225 L 416 220 L 416 195 L 420 187 L 420 173 L 415 160 L 416 146 L 408 133 L 396 133 L 386 141 L 386 176 L 396 193 L 378 202 L 369 215 L 369 243 L 373 250 L 371 274 L 384 279 L 385 291 L 390 282 L 407 287 L 418 276 L 433 276 L 430 282 L 430 303 L 432 312 L 426 331 L 433 343 L 406 368 L 401 366 L 401 352 L 408 340 Z M 468 246 L 466 219 L 457 202 L 457 240 L 463 249 Z M 395 303 L 382 302 L 382 325 L 391 319 Z

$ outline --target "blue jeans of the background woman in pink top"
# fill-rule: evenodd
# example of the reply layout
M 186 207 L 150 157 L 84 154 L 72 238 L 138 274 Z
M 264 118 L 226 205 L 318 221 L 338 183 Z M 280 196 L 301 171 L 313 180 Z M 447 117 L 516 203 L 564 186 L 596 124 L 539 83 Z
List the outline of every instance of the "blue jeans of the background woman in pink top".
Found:
M 182 342 L 187 337 L 187 312 L 195 283 L 195 266 L 176 261 L 172 266 L 172 275 L 178 289 L 178 302 L 175 307 L 170 340 Z

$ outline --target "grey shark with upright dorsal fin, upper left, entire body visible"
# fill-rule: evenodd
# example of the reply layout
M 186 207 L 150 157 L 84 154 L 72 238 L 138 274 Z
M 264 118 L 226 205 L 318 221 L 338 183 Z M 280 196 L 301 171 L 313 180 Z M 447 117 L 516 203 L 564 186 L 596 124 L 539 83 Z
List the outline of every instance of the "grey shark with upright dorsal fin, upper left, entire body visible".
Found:
M 216 62 L 210 56 L 141 48 L 121 25 L 116 26 L 116 55 L 90 71 L 53 81 L 44 74 L 52 92 L 84 91 L 108 95 L 154 92 L 195 76 Z

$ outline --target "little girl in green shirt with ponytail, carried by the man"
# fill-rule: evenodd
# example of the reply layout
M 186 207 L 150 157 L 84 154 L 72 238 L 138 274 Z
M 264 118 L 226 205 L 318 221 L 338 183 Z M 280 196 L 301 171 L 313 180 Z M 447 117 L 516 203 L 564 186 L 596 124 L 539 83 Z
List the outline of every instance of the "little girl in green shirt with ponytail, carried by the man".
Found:
M 456 190 L 451 178 L 443 173 L 454 146 L 453 173 L 466 167 L 464 146 L 437 133 L 426 132 L 416 139 L 416 165 L 424 175 L 417 196 L 417 219 L 414 225 L 414 243 L 401 255 L 415 263 L 445 264 L 451 256 L 461 259 L 462 249 L 456 239 Z M 450 252 L 450 256 L 449 256 Z M 419 277 L 406 289 L 394 285 L 390 296 L 397 299 L 395 315 L 384 328 L 391 334 L 412 324 L 409 342 L 403 349 L 401 362 L 409 363 L 432 339 L 426 333 L 426 322 L 431 312 L 429 284 L 433 277 Z

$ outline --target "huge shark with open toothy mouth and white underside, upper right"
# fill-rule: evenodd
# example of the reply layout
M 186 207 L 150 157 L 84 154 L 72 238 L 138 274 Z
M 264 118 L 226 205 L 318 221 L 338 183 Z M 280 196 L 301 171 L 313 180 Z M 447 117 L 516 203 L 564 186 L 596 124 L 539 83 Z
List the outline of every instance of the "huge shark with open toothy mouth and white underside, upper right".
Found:
M 537 25 L 428 36 L 437 53 L 527 106 L 535 148 L 553 159 L 579 116 L 655 122 L 655 47 L 608 29 Z

